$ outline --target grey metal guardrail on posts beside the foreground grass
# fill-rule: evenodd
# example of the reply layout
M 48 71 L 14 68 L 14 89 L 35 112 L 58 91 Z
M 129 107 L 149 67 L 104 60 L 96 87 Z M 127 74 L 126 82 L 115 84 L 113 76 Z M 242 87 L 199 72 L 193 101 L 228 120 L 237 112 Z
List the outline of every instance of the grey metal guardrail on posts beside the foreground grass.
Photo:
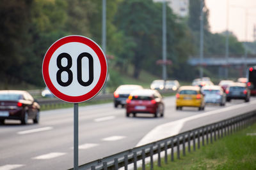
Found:
M 157 155 L 157 166 L 161 166 L 161 152 L 164 152 L 164 162 L 168 162 L 168 149 L 170 150 L 171 161 L 174 160 L 174 152 L 176 150 L 177 159 L 180 159 L 180 152 L 186 155 L 186 146 L 188 152 L 199 149 L 200 146 L 208 145 L 217 139 L 230 135 L 244 127 L 256 122 L 256 111 L 251 111 L 237 117 L 228 118 L 214 124 L 205 125 L 193 129 L 191 131 L 182 132 L 170 138 L 161 139 L 154 143 L 139 146 L 116 153 L 103 159 L 95 160 L 87 164 L 79 166 L 79 169 L 107 170 L 119 169 L 123 167 L 128 169 L 129 164 L 133 164 L 133 169 L 138 168 L 138 161 L 142 161 L 141 168 L 145 169 L 146 158 L 150 158 L 150 169 L 154 168 L 153 156 Z

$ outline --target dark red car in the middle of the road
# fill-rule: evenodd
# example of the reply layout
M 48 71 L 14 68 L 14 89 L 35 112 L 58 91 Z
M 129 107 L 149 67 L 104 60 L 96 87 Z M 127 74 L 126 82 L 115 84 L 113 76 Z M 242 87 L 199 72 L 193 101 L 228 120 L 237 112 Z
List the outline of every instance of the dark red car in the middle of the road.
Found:
M 126 117 L 130 113 L 136 117 L 136 113 L 150 113 L 154 117 L 164 116 L 163 97 L 157 90 L 141 89 L 131 92 L 126 101 Z

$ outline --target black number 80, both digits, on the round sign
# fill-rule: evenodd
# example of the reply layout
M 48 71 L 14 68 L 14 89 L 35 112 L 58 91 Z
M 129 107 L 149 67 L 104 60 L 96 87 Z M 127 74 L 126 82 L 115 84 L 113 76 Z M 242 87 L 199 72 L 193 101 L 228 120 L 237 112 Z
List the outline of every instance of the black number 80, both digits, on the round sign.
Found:
M 89 80 L 86 81 L 86 82 L 84 82 L 83 79 L 82 79 L 82 73 L 83 73 L 83 70 L 82 70 L 82 59 L 83 59 L 83 57 L 87 57 L 88 61 L 89 61 L 89 68 L 88 68 Z M 67 66 L 62 66 L 61 60 L 63 58 L 67 59 Z M 67 87 L 73 81 L 73 73 L 70 70 L 70 68 L 72 67 L 72 57 L 68 53 L 61 53 L 57 57 L 57 67 L 59 68 L 59 70 L 56 73 L 57 82 L 61 86 Z M 67 74 L 68 74 L 67 82 L 63 82 L 61 80 L 61 73 L 63 73 L 63 72 L 67 72 Z M 92 82 L 93 82 L 93 57 L 92 57 L 92 55 L 90 55 L 90 53 L 84 52 L 84 53 L 81 53 L 77 57 L 77 81 L 78 81 L 78 83 L 80 85 L 85 86 L 85 87 L 91 85 Z

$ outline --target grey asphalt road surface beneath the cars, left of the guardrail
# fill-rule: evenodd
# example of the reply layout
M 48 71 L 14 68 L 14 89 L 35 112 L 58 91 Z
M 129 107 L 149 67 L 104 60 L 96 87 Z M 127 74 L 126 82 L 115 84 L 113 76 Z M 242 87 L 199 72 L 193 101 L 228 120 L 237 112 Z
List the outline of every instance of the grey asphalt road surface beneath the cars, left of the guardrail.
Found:
M 193 108 L 189 108 L 188 111 L 183 111 L 182 114 L 177 113 L 173 107 L 174 101 L 174 97 L 166 98 L 165 102 L 168 104 L 166 104 L 164 118 L 152 118 L 150 117 L 151 115 L 143 115 L 143 117 L 136 118 L 126 118 L 125 110 L 113 109 L 113 104 L 95 106 L 94 108 L 79 108 L 79 117 L 81 118 L 79 119 L 79 145 L 84 145 L 86 143 L 95 144 L 92 148 L 80 150 L 80 164 L 84 164 L 90 160 L 96 160 L 100 157 L 105 157 L 107 155 L 118 153 L 134 147 L 136 143 L 138 143 L 138 141 L 156 125 L 177 120 L 182 117 L 188 117 L 189 115 L 203 113 L 203 111 L 193 110 Z M 206 108 L 206 110 L 207 109 L 208 108 Z M 213 108 L 209 109 L 212 110 Z M 97 113 L 97 110 L 100 113 Z M 62 160 L 62 163 L 60 165 L 56 165 L 55 169 L 63 169 L 62 167 L 67 168 L 69 166 L 72 167 L 72 157 L 70 159 L 70 155 L 72 155 L 73 152 L 72 149 L 70 149 L 73 146 L 72 109 L 67 110 L 67 112 L 69 111 L 71 113 L 66 113 L 65 110 L 46 111 L 45 114 L 42 112 L 42 122 L 40 125 L 52 125 L 53 129 L 51 131 L 26 134 L 26 136 L 24 135 L 23 137 L 19 136 L 20 141 L 22 141 L 24 145 L 19 146 L 13 143 L 10 148 L 16 150 L 17 148 L 15 147 L 19 147 L 19 150 L 17 151 L 22 153 L 22 159 L 20 159 L 20 155 L 15 155 L 15 153 L 12 152 L 12 149 L 3 150 L 3 148 L 1 148 L 1 152 L 13 153 L 13 157 L 10 155 L 12 160 L 17 160 L 18 164 L 23 163 L 29 165 L 29 167 L 24 166 L 23 169 L 36 169 L 38 167 L 44 167 L 46 163 L 51 165 L 56 164 L 56 161 L 59 159 Z M 94 122 L 93 118 L 98 116 L 102 117 L 102 112 L 104 116 L 106 114 L 108 114 L 108 116 L 109 114 L 116 114 L 116 118 L 103 122 Z M 52 117 L 54 117 L 54 119 L 52 119 Z M 61 124 L 62 118 L 63 123 Z M 28 130 L 25 127 L 22 128 L 22 130 Z M 102 141 L 102 139 L 111 136 L 125 136 L 125 138 L 118 141 Z M 19 141 L 19 139 L 13 139 L 10 141 Z M 28 148 L 32 148 L 33 152 L 28 150 Z M 49 160 L 33 159 L 38 155 L 45 155 L 52 152 L 65 153 L 65 155 L 61 155 L 60 157 Z M 2 160 L 3 159 L 1 159 L 1 162 L 8 163 L 8 160 Z M 36 165 L 36 167 L 31 167 L 31 164 Z

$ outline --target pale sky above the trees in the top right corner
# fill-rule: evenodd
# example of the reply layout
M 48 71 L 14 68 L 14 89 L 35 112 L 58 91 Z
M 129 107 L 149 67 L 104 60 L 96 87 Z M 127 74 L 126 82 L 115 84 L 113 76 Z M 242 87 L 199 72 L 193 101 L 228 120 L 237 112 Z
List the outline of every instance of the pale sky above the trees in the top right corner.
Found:
M 205 0 L 205 6 L 209 9 L 209 24 L 212 32 L 226 31 L 228 25 L 228 31 L 233 32 L 239 41 L 254 41 L 256 0 Z

